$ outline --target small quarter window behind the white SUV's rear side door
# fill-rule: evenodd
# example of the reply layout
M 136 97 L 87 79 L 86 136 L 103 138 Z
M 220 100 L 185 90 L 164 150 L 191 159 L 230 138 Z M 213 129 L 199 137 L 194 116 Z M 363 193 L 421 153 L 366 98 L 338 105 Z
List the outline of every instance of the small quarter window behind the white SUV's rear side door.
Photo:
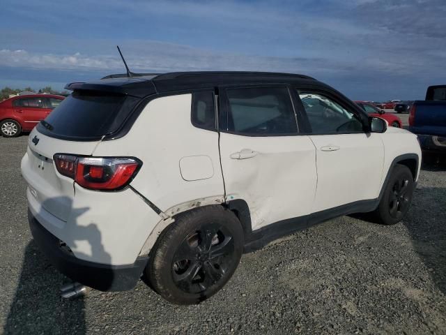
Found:
M 194 92 L 192 94 L 192 124 L 197 128 L 215 131 L 214 94 L 211 91 Z

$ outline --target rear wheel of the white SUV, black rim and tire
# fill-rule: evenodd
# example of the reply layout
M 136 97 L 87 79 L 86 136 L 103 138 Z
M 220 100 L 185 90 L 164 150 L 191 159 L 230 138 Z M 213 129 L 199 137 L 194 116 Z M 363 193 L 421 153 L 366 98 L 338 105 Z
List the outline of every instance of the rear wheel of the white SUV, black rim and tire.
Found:
M 243 230 L 235 214 L 220 205 L 202 207 L 179 214 L 162 232 L 145 275 L 167 301 L 197 304 L 229 281 L 242 253 Z

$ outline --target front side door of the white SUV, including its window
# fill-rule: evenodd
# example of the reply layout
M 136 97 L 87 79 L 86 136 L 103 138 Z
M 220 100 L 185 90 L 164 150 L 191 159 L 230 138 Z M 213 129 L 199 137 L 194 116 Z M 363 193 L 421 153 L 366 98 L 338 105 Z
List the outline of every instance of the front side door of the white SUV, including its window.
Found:
M 364 133 L 353 106 L 329 91 L 298 88 L 316 147 L 318 183 L 314 213 L 378 197 L 384 147 Z

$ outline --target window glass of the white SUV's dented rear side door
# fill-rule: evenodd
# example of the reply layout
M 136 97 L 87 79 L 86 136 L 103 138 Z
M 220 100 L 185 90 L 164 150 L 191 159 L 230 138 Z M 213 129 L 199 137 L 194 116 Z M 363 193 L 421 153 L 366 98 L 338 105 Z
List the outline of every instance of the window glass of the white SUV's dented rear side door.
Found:
M 227 130 L 241 135 L 295 135 L 298 126 L 288 89 L 227 89 Z

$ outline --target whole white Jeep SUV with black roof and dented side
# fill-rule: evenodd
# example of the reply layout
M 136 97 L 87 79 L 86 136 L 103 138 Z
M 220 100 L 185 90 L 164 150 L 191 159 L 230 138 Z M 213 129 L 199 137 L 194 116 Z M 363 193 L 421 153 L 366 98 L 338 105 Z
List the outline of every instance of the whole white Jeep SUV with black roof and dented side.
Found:
M 142 274 L 176 304 L 231 278 L 243 252 L 345 214 L 394 224 L 417 137 L 304 75 L 167 73 L 68 84 L 29 135 L 29 224 L 63 274 L 103 291 Z

